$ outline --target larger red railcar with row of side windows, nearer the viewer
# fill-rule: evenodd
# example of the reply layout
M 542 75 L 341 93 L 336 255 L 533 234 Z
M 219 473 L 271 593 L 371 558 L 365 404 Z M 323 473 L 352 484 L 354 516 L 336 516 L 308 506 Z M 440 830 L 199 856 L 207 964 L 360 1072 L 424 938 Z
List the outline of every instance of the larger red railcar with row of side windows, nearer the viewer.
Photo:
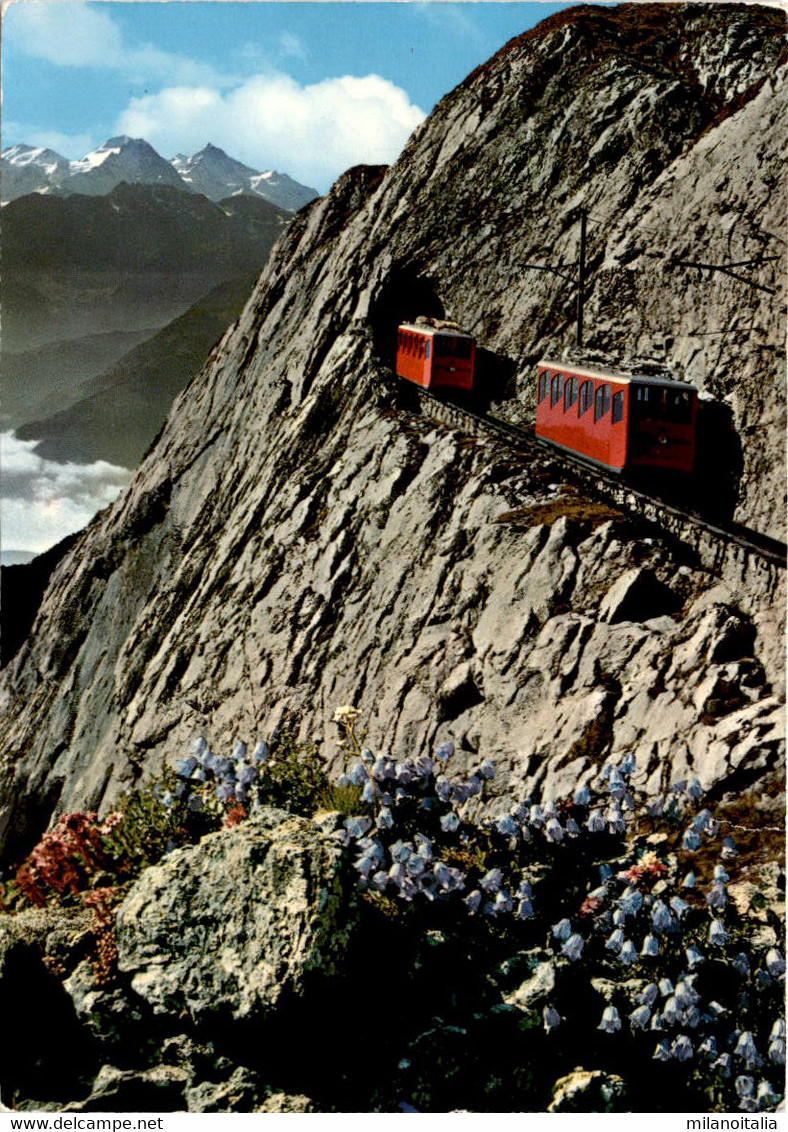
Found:
M 537 436 L 614 471 L 691 472 L 697 393 L 684 381 L 573 362 L 537 366 Z

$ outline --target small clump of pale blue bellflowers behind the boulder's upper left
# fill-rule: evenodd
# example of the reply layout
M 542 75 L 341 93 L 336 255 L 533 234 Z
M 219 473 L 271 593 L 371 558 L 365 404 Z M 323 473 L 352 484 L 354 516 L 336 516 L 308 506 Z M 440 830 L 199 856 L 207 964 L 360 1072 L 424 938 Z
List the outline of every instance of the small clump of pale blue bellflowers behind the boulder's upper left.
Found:
M 195 739 L 191 754 L 175 764 L 173 790 L 164 791 L 161 800 L 171 808 L 179 798 L 195 813 L 212 804 L 246 805 L 268 760 L 268 745 L 263 739 L 249 756 L 246 744 L 237 739 L 229 758 L 214 755 L 205 739 Z

